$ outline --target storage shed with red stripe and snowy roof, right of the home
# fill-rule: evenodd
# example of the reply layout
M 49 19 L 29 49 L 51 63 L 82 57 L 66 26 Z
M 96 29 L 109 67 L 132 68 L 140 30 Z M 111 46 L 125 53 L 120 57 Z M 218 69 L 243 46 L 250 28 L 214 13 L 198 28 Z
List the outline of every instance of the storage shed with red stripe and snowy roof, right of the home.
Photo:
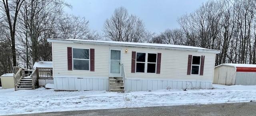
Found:
M 220 64 L 215 66 L 213 84 L 256 85 L 256 64 Z

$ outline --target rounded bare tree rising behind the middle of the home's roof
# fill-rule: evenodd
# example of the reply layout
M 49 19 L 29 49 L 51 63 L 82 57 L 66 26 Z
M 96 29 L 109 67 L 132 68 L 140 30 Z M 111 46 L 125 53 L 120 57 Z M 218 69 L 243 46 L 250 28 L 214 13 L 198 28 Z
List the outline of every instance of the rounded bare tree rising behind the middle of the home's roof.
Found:
M 129 15 L 124 7 L 116 8 L 104 24 L 104 36 L 113 41 L 142 42 L 146 30 L 144 23 L 135 15 Z

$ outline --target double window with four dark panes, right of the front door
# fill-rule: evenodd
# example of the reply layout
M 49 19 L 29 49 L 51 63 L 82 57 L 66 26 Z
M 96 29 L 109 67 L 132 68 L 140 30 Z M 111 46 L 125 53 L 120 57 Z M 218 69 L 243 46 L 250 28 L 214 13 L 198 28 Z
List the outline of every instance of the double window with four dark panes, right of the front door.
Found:
M 145 69 L 148 73 L 156 73 L 156 54 L 137 53 L 136 72 L 145 72 Z

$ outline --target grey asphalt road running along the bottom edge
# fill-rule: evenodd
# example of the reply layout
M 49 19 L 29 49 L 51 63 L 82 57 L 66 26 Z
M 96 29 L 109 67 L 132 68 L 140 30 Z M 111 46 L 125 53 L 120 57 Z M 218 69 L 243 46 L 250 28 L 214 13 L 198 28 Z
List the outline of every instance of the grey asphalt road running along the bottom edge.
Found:
M 19 116 L 256 116 L 256 102 L 157 106 L 22 114 Z M 17 115 L 15 115 L 17 116 Z

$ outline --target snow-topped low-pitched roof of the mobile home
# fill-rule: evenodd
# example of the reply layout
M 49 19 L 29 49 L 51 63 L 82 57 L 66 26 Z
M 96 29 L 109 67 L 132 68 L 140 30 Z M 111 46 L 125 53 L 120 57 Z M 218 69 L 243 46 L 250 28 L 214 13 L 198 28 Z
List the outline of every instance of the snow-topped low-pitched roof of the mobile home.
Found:
M 49 38 L 47 41 L 63 42 L 63 43 L 107 44 L 107 45 L 120 45 L 120 46 L 145 47 L 145 48 L 184 49 L 184 50 L 196 50 L 198 52 L 213 52 L 217 54 L 220 53 L 220 50 L 212 50 L 212 49 L 200 48 L 195 46 L 182 46 L 182 45 L 172 45 L 172 44 L 118 42 L 118 41 L 102 41 L 102 40 L 80 40 L 80 39 L 56 39 L 56 38 Z

